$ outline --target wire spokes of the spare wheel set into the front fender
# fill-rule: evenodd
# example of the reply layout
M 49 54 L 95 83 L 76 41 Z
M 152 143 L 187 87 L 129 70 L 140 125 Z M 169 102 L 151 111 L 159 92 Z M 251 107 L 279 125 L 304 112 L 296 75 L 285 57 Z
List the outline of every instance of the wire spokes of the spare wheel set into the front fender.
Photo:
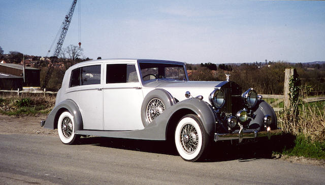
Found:
M 165 105 L 163 101 L 161 101 L 158 98 L 151 99 L 146 108 L 146 117 L 148 122 L 149 123 L 152 122 L 164 111 L 165 111 Z

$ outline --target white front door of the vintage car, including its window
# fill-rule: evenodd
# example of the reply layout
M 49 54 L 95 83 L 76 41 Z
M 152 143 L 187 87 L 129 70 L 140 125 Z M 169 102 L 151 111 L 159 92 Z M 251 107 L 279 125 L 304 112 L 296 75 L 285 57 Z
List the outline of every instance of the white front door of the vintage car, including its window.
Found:
M 107 64 L 104 92 L 104 130 L 143 129 L 143 93 L 134 64 Z

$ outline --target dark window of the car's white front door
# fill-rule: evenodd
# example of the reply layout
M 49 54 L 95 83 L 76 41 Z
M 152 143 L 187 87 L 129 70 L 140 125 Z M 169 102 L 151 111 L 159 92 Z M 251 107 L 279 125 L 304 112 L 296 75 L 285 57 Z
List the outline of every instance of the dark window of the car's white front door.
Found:
M 106 84 L 127 82 L 138 82 L 135 65 L 107 64 Z

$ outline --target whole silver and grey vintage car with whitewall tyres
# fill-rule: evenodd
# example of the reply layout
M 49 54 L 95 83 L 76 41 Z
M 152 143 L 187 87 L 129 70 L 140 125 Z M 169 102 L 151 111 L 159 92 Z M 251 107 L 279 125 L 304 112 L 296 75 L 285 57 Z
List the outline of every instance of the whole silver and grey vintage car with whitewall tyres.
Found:
M 272 107 L 252 88 L 229 80 L 189 81 L 175 61 L 103 59 L 77 63 L 64 74 L 55 107 L 41 126 L 74 144 L 80 135 L 172 140 L 186 161 L 212 141 L 281 133 Z

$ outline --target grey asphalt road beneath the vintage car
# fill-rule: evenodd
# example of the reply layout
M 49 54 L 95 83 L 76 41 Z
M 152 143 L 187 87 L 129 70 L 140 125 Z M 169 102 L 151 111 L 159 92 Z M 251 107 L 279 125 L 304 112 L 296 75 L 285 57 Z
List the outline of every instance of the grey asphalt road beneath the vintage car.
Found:
M 217 152 L 217 149 L 214 152 Z M 0 184 L 324 184 L 325 168 L 256 156 L 185 162 L 161 141 L 0 134 Z

